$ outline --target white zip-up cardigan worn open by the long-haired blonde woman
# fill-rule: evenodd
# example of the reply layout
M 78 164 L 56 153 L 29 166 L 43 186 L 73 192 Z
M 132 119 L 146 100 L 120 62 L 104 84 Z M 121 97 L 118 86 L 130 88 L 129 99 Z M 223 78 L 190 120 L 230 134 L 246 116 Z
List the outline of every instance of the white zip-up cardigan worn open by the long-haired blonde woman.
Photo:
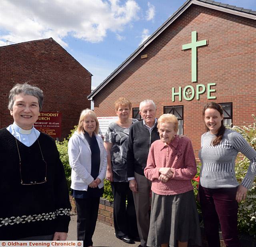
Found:
M 100 136 L 96 135 L 96 140 L 100 148 L 100 170 L 98 178 L 101 183 L 98 185 L 99 188 L 104 186 L 103 179 L 106 176 L 107 170 L 107 154 L 103 145 L 103 140 Z M 69 164 L 72 168 L 71 171 L 71 188 L 73 190 L 86 190 L 88 184 L 94 181 L 91 176 L 91 149 L 84 133 L 78 134 L 75 132 L 70 140 L 68 141 L 68 157 Z

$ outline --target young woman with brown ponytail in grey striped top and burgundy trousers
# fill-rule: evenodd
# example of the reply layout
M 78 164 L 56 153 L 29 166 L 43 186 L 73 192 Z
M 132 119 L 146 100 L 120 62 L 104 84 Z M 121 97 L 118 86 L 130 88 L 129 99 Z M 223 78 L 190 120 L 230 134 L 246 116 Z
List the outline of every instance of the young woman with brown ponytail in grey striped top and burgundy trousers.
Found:
M 226 129 L 223 109 L 208 103 L 203 109 L 208 132 L 201 137 L 199 158 L 202 162 L 199 196 L 204 230 L 209 247 L 220 247 L 218 225 L 226 246 L 240 247 L 237 231 L 238 202 L 245 200 L 256 174 L 256 151 L 241 134 Z M 234 171 L 238 152 L 250 160 L 241 184 Z

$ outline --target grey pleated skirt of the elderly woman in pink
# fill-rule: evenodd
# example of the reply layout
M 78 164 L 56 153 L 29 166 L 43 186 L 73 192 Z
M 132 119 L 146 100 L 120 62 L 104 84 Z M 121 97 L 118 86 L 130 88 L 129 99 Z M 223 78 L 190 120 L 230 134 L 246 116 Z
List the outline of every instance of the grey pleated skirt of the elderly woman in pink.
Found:
M 152 192 L 147 246 L 159 247 L 178 241 L 201 246 L 201 233 L 193 190 L 170 196 Z

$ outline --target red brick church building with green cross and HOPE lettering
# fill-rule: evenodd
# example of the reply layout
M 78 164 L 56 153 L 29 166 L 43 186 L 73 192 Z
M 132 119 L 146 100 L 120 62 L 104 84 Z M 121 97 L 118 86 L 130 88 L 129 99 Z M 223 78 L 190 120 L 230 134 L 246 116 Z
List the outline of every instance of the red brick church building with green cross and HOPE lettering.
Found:
M 204 132 L 202 108 L 222 103 L 225 122 L 252 123 L 256 113 L 256 11 L 210 0 L 186 1 L 89 96 L 99 117 L 114 101 L 152 99 L 157 117 L 173 113 L 195 152 Z

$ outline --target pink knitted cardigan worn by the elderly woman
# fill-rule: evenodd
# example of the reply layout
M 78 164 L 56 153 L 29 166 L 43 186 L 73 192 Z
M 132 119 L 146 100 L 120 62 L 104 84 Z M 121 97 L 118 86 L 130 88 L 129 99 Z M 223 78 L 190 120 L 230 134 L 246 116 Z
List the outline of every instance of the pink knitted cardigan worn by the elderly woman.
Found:
M 173 177 L 166 183 L 158 180 L 161 167 L 174 169 Z M 196 160 L 190 139 L 176 135 L 169 145 L 161 140 L 154 141 L 144 174 L 152 181 L 151 189 L 158 195 L 175 195 L 193 190 L 190 180 L 196 174 Z

